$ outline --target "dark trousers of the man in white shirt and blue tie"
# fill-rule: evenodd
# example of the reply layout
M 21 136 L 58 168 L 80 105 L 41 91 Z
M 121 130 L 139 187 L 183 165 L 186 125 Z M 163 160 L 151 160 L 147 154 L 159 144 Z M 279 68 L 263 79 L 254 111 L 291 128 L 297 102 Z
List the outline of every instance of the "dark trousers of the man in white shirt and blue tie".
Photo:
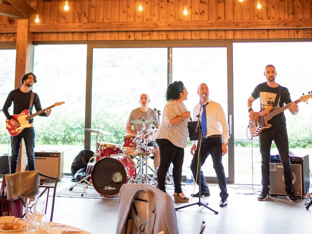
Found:
M 221 190 L 220 197 L 221 198 L 228 198 L 229 194 L 226 188 L 226 176 L 222 164 L 222 139 L 221 138 L 209 138 L 209 139 L 202 139 L 201 142 L 201 149 L 200 149 L 200 187 L 201 192 L 208 191 L 208 184 L 206 182 L 205 176 L 203 171 L 201 170 L 201 166 L 204 165 L 207 157 L 211 155 L 213 159 L 215 174 L 218 179 L 219 188 Z M 191 171 L 193 173 L 194 178 L 197 177 L 197 161 L 198 161 L 198 146 L 195 150 L 195 154 L 193 156 L 191 162 Z M 196 183 L 199 185 L 199 179 L 197 178 Z

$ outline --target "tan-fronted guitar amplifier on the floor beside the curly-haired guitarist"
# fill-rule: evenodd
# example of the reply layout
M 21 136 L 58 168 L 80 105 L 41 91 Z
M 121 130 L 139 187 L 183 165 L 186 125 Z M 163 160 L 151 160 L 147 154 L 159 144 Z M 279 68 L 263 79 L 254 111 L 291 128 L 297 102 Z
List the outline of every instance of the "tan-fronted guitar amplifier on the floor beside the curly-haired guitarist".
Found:
M 47 176 L 63 178 L 64 151 L 35 152 L 35 169 Z M 48 178 L 40 178 L 49 180 Z

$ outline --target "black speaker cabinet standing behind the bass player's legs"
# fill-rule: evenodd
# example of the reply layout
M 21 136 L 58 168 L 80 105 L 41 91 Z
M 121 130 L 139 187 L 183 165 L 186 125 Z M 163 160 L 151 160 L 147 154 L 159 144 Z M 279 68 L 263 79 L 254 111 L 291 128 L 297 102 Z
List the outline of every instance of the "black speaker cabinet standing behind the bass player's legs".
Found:
M 310 185 L 309 155 L 291 156 L 292 189 L 296 196 L 303 197 Z M 271 156 L 270 162 L 270 195 L 286 195 L 283 165 L 279 156 Z

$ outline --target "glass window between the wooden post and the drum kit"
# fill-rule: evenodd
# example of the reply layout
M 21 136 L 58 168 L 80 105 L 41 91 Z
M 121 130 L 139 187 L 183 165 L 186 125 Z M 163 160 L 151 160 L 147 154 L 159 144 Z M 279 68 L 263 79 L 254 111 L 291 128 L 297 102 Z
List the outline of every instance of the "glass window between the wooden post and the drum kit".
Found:
M 86 45 L 35 47 L 33 91 L 42 108 L 56 102 L 49 117 L 35 117 L 35 151 L 64 151 L 64 172 L 70 173 L 75 156 L 84 149 Z

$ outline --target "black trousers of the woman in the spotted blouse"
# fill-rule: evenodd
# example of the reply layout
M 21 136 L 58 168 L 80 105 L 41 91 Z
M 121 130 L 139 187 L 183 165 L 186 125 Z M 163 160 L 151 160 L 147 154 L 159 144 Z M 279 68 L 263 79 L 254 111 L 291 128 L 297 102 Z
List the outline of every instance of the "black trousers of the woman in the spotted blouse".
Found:
M 173 163 L 175 193 L 182 193 L 181 176 L 184 159 L 184 149 L 175 146 L 167 139 L 156 139 L 160 151 L 160 164 L 157 171 L 158 188 L 166 193 L 165 180 L 170 164 Z

